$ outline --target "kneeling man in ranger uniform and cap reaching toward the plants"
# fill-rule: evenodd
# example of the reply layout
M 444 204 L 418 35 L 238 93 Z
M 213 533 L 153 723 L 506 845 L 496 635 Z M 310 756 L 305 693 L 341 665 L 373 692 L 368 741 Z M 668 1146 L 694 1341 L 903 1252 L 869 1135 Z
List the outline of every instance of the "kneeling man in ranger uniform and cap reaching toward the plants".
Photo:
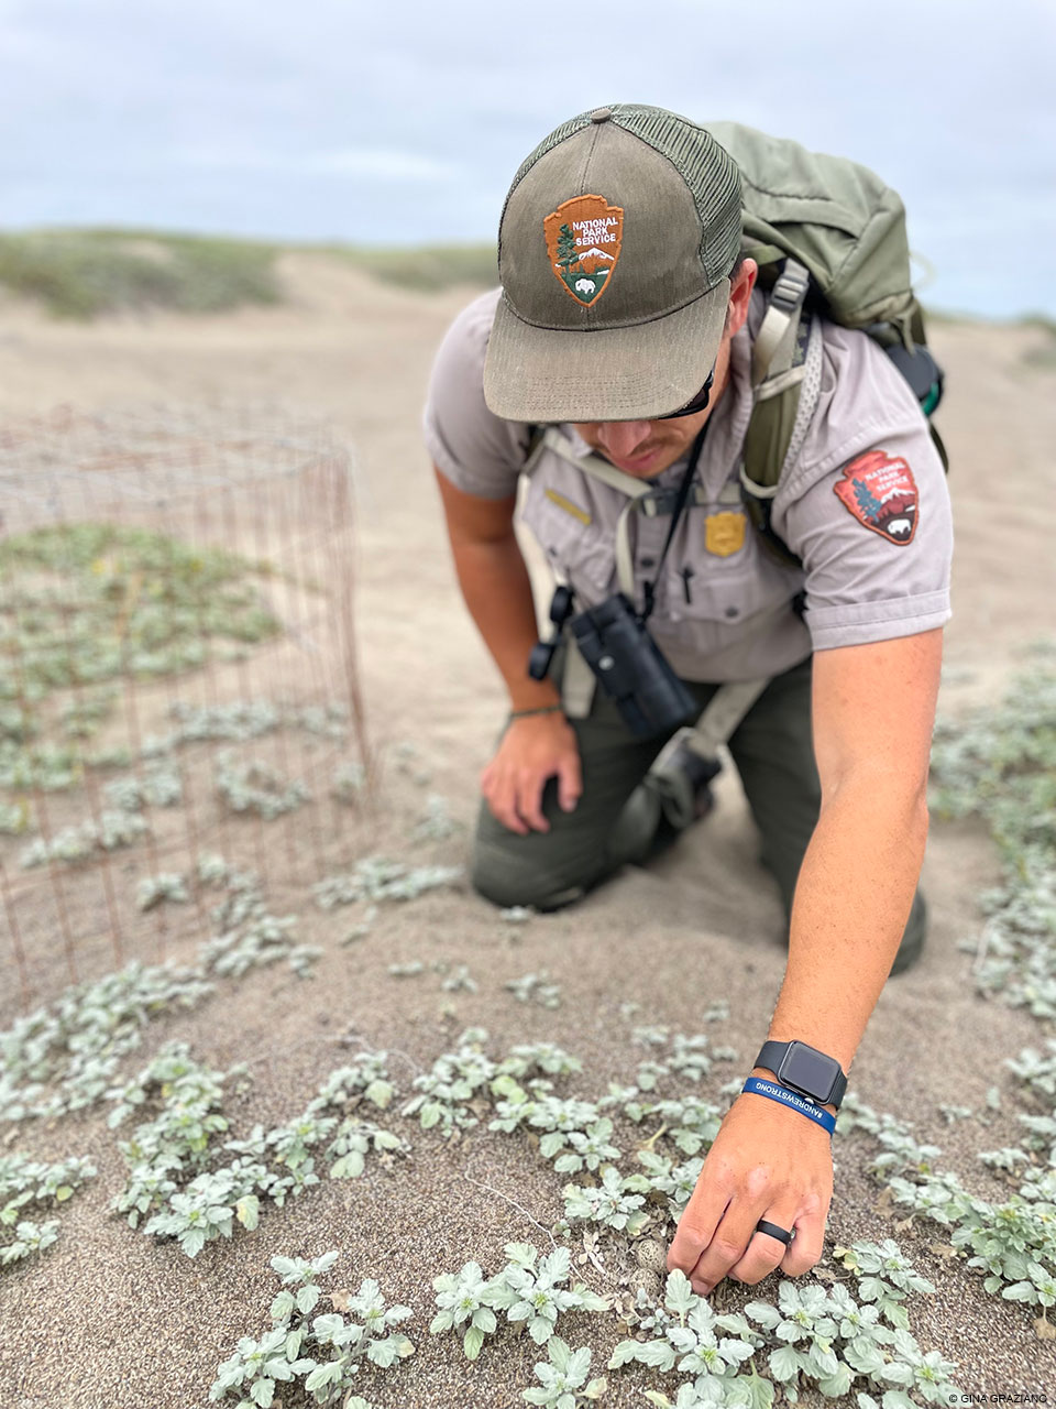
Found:
M 943 468 L 866 334 L 815 320 L 812 413 L 769 504 L 784 561 L 745 514 L 756 273 L 738 168 L 707 131 L 659 108 L 583 114 L 518 172 L 503 287 L 452 324 L 425 414 L 459 582 L 511 703 L 483 774 L 476 888 L 555 909 L 645 859 L 705 809 L 712 769 L 691 740 L 656 761 L 714 703 L 790 916 L 770 1041 L 669 1257 L 698 1291 L 821 1255 L 817 1126 L 888 972 L 924 943 L 949 619 Z M 521 516 L 576 638 L 553 662 L 513 528 L 525 472 Z M 605 671 L 629 683 L 594 688 Z

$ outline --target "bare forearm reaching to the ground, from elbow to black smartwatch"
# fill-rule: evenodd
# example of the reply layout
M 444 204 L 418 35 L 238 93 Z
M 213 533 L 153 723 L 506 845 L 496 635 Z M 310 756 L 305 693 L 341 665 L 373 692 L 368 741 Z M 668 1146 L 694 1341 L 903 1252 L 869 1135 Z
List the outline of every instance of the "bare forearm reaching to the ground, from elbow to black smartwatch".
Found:
M 772 1038 L 810 1043 L 849 1069 L 898 950 L 926 834 L 924 792 L 890 776 L 865 772 L 825 802 L 796 888 Z

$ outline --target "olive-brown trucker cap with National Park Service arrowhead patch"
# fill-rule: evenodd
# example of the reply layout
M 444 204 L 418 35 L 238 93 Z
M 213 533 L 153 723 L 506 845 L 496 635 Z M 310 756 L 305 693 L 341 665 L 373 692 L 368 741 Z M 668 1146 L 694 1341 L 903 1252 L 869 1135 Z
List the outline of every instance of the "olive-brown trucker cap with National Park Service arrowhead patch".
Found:
M 484 400 L 513 421 L 636 421 L 686 406 L 722 340 L 741 175 L 697 123 L 617 103 L 521 165 L 498 228 Z

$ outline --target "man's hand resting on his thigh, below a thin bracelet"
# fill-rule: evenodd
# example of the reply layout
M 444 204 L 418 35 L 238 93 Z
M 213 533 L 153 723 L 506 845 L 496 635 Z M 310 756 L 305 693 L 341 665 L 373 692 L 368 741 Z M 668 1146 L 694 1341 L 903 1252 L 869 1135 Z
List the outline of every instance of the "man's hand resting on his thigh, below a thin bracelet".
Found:
M 528 714 L 511 720 L 498 752 L 480 775 L 480 790 L 494 817 L 511 831 L 549 831 L 542 790 L 555 776 L 558 803 L 562 812 L 572 812 L 583 792 L 576 733 L 563 714 Z

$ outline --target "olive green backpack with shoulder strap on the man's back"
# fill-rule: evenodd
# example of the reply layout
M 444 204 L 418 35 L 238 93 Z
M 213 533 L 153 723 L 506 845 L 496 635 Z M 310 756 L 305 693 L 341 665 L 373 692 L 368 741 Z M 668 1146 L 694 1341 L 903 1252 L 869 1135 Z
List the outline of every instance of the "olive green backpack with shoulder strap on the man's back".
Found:
M 910 282 L 905 209 L 879 176 L 842 156 L 808 152 L 738 123 L 707 123 L 741 169 L 741 252 L 769 290 L 752 352 L 755 409 L 745 437 L 741 490 L 765 541 L 798 559 L 770 528 L 786 464 L 798 452 L 817 404 L 808 372 L 811 311 L 860 328 L 884 348 L 931 417 L 942 371 L 926 348 Z M 932 440 L 948 468 L 938 431 Z

